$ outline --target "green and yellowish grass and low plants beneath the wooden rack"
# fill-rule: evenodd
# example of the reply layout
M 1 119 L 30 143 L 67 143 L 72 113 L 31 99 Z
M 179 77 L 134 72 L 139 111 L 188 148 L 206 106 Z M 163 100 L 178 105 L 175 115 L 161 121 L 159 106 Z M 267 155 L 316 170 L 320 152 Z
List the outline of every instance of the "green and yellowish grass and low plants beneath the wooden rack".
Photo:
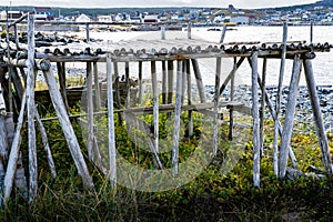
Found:
M 145 120 L 149 122 L 150 117 Z M 160 122 L 163 124 L 163 117 Z M 92 163 L 88 163 L 95 184 L 95 192 L 90 192 L 84 190 L 77 173 L 59 123 L 53 121 L 44 124 L 49 130 L 59 176 L 52 179 L 48 172 L 47 159 L 38 138 L 38 198 L 29 203 L 18 192 L 13 193 L 6 206 L 0 209 L 0 221 L 330 221 L 333 218 L 332 178 L 302 175 L 294 181 L 278 180 L 273 174 L 270 149 L 261 160 L 261 188 L 253 188 L 251 137 L 249 141 L 241 141 L 244 153 L 230 172 L 221 174 L 221 164 L 232 148 L 232 143 L 222 139 L 218 157 L 201 174 L 186 184 L 164 192 L 140 192 L 121 185 L 113 190 L 110 181 Z M 195 124 L 200 127 L 199 122 Z M 82 129 L 77 123 L 73 127 L 88 159 Z M 202 130 L 199 127 L 195 131 L 198 138 Z M 268 148 L 272 143 L 271 127 L 266 122 Z M 162 134 L 170 131 L 165 127 L 161 129 Z M 223 125 L 223 137 L 226 137 L 226 129 L 228 125 Z M 151 155 L 139 151 L 129 141 L 125 125 L 118 124 L 115 130 L 122 155 L 142 168 L 153 168 Z M 251 131 L 245 129 L 244 132 L 251 135 Z M 333 135 L 327 135 L 332 153 Z M 188 148 L 193 150 L 193 144 L 184 140 L 182 145 L 180 152 L 186 159 L 191 152 L 185 151 Z M 310 164 L 323 168 L 314 133 L 304 131 L 294 134 L 292 147 L 301 170 L 305 171 Z M 27 157 L 26 139 L 22 152 Z M 170 158 L 167 153 L 162 160 L 165 165 L 170 163 Z M 27 162 L 23 161 L 26 165 Z

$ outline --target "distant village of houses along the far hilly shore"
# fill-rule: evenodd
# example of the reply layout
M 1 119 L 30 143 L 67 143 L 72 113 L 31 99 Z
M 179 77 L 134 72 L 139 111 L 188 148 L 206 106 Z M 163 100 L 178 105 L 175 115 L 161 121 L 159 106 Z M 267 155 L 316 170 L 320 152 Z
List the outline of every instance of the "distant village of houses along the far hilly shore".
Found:
M 119 9 L 121 10 L 121 9 Z M 170 11 L 159 13 L 133 11 L 133 12 L 117 12 L 110 14 L 90 16 L 78 12 L 74 16 L 62 16 L 59 9 L 58 14 L 49 7 L 34 7 L 33 12 L 37 21 L 58 21 L 58 22 L 115 22 L 131 24 L 152 24 L 152 23 L 178 23 L 184 24 L 191 22 L 198 26 L 215 26 L 221 23 L 228 24 L 252 24 L 252 26 L 278 26 L 282 22 L 289 22 L 295 26 L 309 24 L 333 24 L 333 8 L 332 7 L 313 7 L 311 9 L 295 8 L 292 11 L 278 9 L 261 9 L 245 10 L 238 9 L 229 4 L 225 9 L 190 9 L 183 10 L 176 8 Z M 20 18 L 28 10 L 0 11 L 0 21 L 7 19 L 13 21 Z

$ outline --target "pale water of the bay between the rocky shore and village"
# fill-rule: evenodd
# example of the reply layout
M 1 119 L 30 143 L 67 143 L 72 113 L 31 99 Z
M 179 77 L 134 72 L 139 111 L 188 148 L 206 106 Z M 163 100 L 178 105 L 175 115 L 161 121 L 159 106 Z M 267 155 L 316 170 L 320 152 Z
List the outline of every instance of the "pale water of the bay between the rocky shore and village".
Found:
M 282 27 L 234 27 L 233 30 L 226 31 L 224 43 L 229 42 L 282 42 Z M 68 34 L 68 33 L 65 33 Z M 85 32 L 75 32 L 79 37 L 84 38 Z M 167 39 L 186 38 L 186 31 L 167 31 Z M 102 46 L 105 48 L 120 42 L 122 40 L 147 40 L 159 39 L 161 33 L 159 31 L 128 31 L 128 32 L 108 32 L 108 31 L 91 31 L 90 37 L 92 39 L 103 40 Z M 221 38 L 221 31 L 208 31 L 208 28 L 192 28 L 192 39 L 206 40 L 213 43 L 219 43 Z M 289 27 L 287 28 L 287 41 L 305 41 L 310 42 L 310 27 Z M 315 26 L 313 28 L 313 43 L 329 42 L 333 44 L 333 27 L 330 26 Z M 101 43 L 99 43 L 101 44 Z M 87 46 L 84 46 L 87 47 Z M 91 43 L 90 47 L 97 48 L 98 44 Z M 155 46 L 159 49 L 159 46 Z M 333 50 L 333 49 L 332 49 Z M 259 73 L 262 71 L 262 60 L 259 60 Z M 204 84 L 211 85 L 214 83 L 215 74 L 215 60 L 214 59 L 200 59 L 200 69 L 203 74 Z M 270 85 L 276 85 L 280 73 L 279 59 L 270 59 L 268 61 L 268 77 L 266 83 Z M 232 69 L 233 60 L 225 58 L 222 59 L 222 81 Z M 286 60 L 284 70 L 283 84 L 287 85 L 292 73 L 292 60 Z M 313 71 L 315 75 L 316 84 L 333 84 L 333 51 L 317 52 L 316 58 L 312 60 Z M 138 75 L 138 65 L 130 64 L 131 75 L 135 78 Z M 124 72 L 124 67 L 120 64 L 120 73 Z M 158 63 L 158 74 L 162 73 L 161 65 Z M 161 77 L 162 74 L 159 74 Z M 143 64 L 143 78 L 150 79 L 150 64 Z M 161 78 L 160 78 L 161 79 Z M 236 72 L 235 82 L 238 84 L 251 84 L 251 69 L 248 62 L 243 62 Z M 304 74 L 301 74 L 300 84 L 305 84 Z

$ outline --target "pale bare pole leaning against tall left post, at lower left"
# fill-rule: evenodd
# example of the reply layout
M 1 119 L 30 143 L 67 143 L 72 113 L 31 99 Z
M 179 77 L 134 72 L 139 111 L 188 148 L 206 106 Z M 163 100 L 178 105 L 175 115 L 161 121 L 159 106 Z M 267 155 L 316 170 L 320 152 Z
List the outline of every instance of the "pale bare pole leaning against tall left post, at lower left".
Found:
M 3 192 L 4 200 L 9 200 L 10 193 L 12 190 L 12 185 L 13 185 L 14 173 L 17 170 L 17 161 L 19 158 L 19 150 L 20 150 L 21 141 L 22 141 L 22 125 L 23 125 L 23 120 L 24 120 L 26 105 L 27 105 L 27 97 L 26 97 L 26 94 L 23 94 L 21 110 L 20 110 L 20 114 L 18 118 L 17 129 L 16 129 L 16 134 L 14 134 L 12 145 L 10 149 L 7 171 L 6 171 L 6 175 L 4 175 L 4 189 L 3 189 L 4 190 L 4 192 Z

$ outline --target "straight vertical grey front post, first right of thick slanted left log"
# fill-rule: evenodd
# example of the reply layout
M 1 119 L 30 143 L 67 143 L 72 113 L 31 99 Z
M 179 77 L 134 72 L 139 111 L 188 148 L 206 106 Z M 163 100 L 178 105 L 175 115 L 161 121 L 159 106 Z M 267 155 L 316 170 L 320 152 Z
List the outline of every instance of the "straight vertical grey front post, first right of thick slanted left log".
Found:
M 114 119 L 113 119 L 112 59 L 110 53 L 107 54 L 107 81 L 108 81 L 110 180 L 113 183 L 113 188 L 115 188 L 117 184 L 115 135 L 114 135 Z

